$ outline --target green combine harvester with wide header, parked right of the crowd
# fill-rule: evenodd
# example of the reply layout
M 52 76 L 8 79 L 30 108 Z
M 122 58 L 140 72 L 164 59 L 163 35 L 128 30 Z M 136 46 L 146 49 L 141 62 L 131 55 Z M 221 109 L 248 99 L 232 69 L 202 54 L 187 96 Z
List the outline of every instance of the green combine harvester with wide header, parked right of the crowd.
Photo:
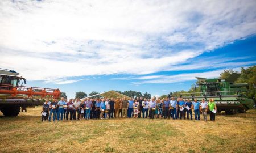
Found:
M 201 92 L 168 94 L 169 97 L 183 99 L 209 100 L 214 99 L 217 112 L 225 111 L 226 114 L 245 113 L 254 108 L 254 100 L 246 96 L 249 89 L 248 83 L 234 83 L 240 74 L 234 73 L 227 79 L 197 78 L 197 85 Z

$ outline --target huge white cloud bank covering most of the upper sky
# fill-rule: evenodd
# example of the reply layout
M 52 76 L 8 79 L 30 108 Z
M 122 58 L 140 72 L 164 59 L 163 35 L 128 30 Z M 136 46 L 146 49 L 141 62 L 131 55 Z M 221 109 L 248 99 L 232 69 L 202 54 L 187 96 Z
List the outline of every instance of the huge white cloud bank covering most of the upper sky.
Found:
M 0 67 L 27 79 L 52 82 L 175 70 L 205 51 L 255 34 L 255 5 L 255 1 L 200 1 L 200 5 L 0 1 Z M 76 79 L 59 83 L 72 82 Z

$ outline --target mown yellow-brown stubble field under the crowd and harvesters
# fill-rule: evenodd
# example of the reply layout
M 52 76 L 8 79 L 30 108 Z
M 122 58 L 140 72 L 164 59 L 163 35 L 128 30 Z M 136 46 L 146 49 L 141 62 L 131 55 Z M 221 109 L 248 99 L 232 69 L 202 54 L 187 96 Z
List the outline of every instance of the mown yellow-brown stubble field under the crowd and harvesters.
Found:
M 114 119 L 41 122 L 40 108 L 0 114 L 0 152 L 256 152 L 256 111 L 216 122 Z

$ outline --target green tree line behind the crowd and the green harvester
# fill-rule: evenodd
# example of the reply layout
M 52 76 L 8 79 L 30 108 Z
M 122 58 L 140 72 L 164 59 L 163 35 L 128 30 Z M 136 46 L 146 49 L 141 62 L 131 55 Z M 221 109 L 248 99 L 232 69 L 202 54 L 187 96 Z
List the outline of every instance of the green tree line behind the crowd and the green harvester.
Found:
M 234 71 L 233 69 L 224 70 L 220 74 L 219 78 L 226 79 L 230 75 L 232 75 L 233 73 L 240 73 L 241 74 L 240 77 L 236 80 L 235 83 L 249 83 L 249 91 L 247 93 L 247 96 L 249 96 L 251 99 L 255 99 L 255 97 L 256 97 L 256 65 L 247 67 L 246 69 L 241 67 L 240 72 Z M 192 83 L 191 88 L 189 88 L 188 91 L 181 90 L 181 91 L 175 91 L 173 93 L 174 94 L 179 94 L 179 93 L 188 93 L 188 92 L 200 92 L 200 87 L 196 86 L 196 83 L 197 82 Z M 126 95 L 126 96 L 129 96 L 129 97 L 143 97 L 143 98 L 146 98 L 146 99 L 151 99 L 151 94 L 148 93 L 148 92 L 145 92 L 144 94 L 142 94 L 139 91 L 132 91 L 132 90 L 123 91 L 123 92 L 117 90 L 116 92 L 119 92 L 119 93 L 121 93 L 123 95 Z M 96 94 L 99 94 L 99 93 L 97 91 L 92 91 L 92 92 L 90 92 L 89 96 L 96 95 Z M 61 97 L 67 98 L 66 93 L 61 92 Z M 79 92 L 76 92 L 75 97 L 79 98 L 79 99 L 82 99 L 84 97 L 87 97 L 87 94 L 83 91 L 79 91 Z M 100 98 L 101 96 L 97 95 L 95 97 Z M 168 95 L 162 95 L 160 97 L 164 98 L 164 97 L 168 97 Z

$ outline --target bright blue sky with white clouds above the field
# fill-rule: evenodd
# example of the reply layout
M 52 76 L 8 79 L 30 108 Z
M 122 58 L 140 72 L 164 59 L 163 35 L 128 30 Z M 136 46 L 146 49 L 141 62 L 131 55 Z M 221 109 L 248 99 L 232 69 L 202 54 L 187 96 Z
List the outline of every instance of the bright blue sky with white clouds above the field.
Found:
M 28 86 L 188 90 L 256 64 L 256 1 L 0 1 L 0 67 Z

